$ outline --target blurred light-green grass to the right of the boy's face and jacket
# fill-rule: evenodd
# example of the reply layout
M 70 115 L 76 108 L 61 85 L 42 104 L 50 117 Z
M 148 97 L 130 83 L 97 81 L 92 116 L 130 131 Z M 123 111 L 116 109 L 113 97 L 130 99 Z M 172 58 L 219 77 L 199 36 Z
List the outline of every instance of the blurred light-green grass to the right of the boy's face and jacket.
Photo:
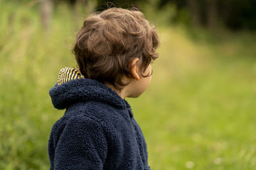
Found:
M 193 169 L 255 169 L 252 48 L 229 38 L 196 43 L 179 29 L 159 32 L 152 85 L 131 99 L 152 168 L 187 169 L 191 161 Z

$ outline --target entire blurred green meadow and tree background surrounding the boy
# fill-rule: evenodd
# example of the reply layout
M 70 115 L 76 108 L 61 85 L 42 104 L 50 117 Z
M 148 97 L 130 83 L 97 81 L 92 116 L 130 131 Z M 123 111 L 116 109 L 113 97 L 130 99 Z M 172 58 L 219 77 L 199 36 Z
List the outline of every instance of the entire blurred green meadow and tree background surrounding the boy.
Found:
M 116 1 L 137 6 L 161 45 L 152 83 L 127 99 L 152 169 L 256 169 L 256 4 L 253 0 Z M 104 1 L 0 0 L 0 169 L 49 169 L 63 115 L 49 89 L 76 67 L 76 32 Z

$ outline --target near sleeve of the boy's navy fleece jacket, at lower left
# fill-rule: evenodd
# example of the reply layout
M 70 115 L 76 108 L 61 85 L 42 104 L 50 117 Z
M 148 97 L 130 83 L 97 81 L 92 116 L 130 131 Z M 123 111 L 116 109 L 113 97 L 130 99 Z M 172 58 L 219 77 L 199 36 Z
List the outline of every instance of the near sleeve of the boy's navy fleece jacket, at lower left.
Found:
M 64 120 L 64 118 L 63 118 Z M 108 142 L 99 122 L 83 115 L 65 117 L 55 146 L 49 142 L 51 167 L 56 169 L 102 169 Z M 52 136 L 51 139 L 56 138 Z

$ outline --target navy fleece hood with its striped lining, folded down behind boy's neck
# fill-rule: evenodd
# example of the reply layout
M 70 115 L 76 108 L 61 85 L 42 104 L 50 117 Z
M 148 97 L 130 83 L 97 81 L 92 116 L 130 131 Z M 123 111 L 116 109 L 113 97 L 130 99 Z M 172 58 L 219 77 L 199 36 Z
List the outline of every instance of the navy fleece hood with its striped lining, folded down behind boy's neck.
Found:
M 49 94 L 53 106 L 58 110 L 86 101 L 99 101 L 120 109 L 131 108 L 125 99 L 103 83 L 83 78 L 79 71 L 68 67 L 61 69 L 58 81 Z

